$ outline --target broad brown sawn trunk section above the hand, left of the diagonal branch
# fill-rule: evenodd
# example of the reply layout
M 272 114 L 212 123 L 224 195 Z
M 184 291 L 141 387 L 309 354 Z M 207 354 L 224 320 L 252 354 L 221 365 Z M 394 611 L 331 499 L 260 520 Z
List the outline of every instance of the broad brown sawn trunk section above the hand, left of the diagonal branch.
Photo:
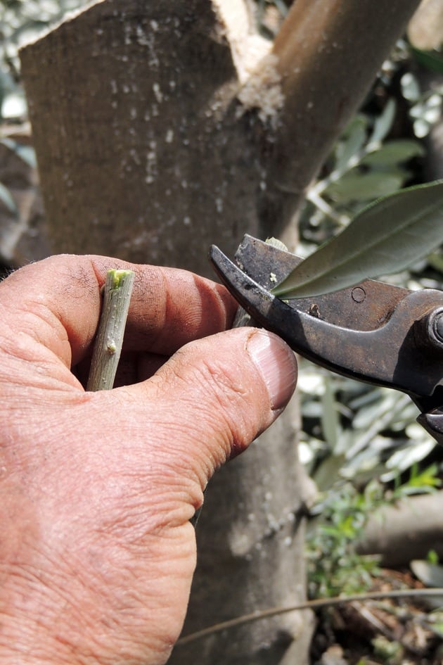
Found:
M 52 251 L 210 274 L 210 243 L 257 234 L 262 165 L 217 3 L 101 1 L 20 57 Z

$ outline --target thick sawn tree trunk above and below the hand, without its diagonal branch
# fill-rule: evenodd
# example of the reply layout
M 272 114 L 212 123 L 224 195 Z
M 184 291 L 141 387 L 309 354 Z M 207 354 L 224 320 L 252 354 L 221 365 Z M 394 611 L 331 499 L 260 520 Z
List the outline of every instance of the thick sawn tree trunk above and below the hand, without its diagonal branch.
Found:
M 269 46 L 243 2 L 236 15 L 223 5 L 105 0 L 22 51 L 53 251 L 211 274 L 210 243 L 233 254 L 245 232 L 259 234 L 271 123 L 239 113 L 255 98 L 236 93 Z M 185 633 L 304 600 L 297 427 L 295 400 L 210 483 Z M 309 613 L 294 613 L 177 647 L 172 662 L 302 665 L 311 629 Z

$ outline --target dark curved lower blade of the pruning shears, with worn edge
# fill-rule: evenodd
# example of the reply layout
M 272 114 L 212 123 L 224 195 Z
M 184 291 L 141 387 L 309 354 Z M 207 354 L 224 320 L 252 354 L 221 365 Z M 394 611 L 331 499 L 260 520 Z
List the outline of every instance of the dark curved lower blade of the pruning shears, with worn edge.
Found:
M 270 255 L 270 250 L 265 251 L 264 260 Z M 300 309 L 300 300 L 285 302 L 276 298 L 269 286 L 258 284 L 243 272 L 241 264 L 234 264 L 215 246 L 211 248 L 210 259 L 221 280 L 248 314 L 304 357 L 349 378 L 416 395 L 413 399 L 426 405 L 427 410 L 441 405 L 441 395 L 437 393 L 443 386 L 443 348 L 436 350 L 430 346 L 423 336 L 421 322 L 430 312 L 443 310 L 442 291 L 406 291 L 378 327 L 353 329 Z M 274 273 L 271 264 L 265 262 L 260 270 Z M 425 396 L 431 399 L 423 400 Z

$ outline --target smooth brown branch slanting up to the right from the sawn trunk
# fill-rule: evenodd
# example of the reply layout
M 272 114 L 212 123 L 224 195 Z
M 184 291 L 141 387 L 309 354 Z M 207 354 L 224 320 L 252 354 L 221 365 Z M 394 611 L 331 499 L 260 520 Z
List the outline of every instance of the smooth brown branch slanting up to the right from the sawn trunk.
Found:
M 354 0 L 297 0 L 290 8 L 274 43 L 285 101 L 268 191 L 268 215 L 278 212 L 278 192 L 288 193 L 283 227 L 419 4 L 361 0 L 356 10 Z

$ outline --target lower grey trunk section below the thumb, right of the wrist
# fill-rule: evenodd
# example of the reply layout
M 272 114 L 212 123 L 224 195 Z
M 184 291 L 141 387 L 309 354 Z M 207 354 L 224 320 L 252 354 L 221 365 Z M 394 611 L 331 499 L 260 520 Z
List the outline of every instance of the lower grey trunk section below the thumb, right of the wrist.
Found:
M 309 486 L 294 454 L 294 412 L 295 403 L 207 488 L 184 635 L 305 597 L 302 523 Z M 303 665 L 313 628 L 310 612 L 292 612 L 177 645 L 170 663 Z

